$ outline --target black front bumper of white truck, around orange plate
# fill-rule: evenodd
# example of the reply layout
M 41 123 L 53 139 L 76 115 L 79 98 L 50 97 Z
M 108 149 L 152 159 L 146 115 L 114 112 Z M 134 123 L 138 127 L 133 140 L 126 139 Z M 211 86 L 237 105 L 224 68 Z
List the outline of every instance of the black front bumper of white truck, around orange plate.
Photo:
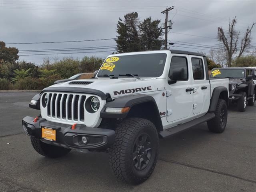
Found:
M 34 122 L 34 118 L 26 116 L 22 119 L 24 132 L 31 136 L 41 139 L 47 144 L 62 146 L 74 149 L 106 149 L 114 143 L 115 131 L 102 128 L 86 127 L 83 124 L 77 124 L 74 130 L 72 125 L 60 124 L 47 121 L 44 118 L 38 118 Z M 49 141 L 42 138 L 42 126 L 56 130 L 56 141 Z M 88 142 L 82 142 L 82 136 L 86 136 Z

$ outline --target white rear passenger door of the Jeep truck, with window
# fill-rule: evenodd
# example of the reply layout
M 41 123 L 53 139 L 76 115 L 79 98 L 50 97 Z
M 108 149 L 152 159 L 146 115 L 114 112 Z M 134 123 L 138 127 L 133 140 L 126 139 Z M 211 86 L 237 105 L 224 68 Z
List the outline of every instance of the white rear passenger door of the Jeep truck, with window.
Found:
M 210 82 L 207 79 L 204 58 L 202 56 L 189 56 L 192 65 L 193 83 L 193 114 L 206 113 L 210 106 Z

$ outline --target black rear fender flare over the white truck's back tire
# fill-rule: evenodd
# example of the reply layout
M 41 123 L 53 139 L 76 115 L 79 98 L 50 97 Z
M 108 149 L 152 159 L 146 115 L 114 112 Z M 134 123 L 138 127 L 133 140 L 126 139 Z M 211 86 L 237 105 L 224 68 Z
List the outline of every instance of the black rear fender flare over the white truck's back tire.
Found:
M 220 94 L 222 92 L 226 92 L 224 94 L 224 98 L 222 98 L 222 99 L 224 99 L 226 101 L 227 105 L 228 105 L 228 89 L 224 86 L 216 87 L 216 88 L 214 88 L 214 90 L 212 92 L 212 98 L 211 98 L 211 101 L 210 101 L 210 107 L 209 107 L 208 112 L 214 112 L 215 111 L 218 100 L 220 98 Z

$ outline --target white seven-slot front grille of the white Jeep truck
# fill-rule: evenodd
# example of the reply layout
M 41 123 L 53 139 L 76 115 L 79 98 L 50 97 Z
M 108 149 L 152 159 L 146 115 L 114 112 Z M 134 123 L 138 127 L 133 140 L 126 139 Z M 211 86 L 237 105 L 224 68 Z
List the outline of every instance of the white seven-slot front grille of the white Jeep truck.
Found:
M 84 122 L 85 95 L 70 93 L 47 93 L 47 116 L 61 120 Z M 42 100 L 42 102 L 44 102 Z

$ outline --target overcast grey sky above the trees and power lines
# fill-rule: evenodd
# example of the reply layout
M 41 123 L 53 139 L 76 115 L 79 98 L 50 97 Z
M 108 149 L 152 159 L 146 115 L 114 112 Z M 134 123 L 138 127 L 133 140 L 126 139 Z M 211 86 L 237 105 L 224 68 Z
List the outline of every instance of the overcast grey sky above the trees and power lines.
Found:
M 129 12 L 138 12 L 140 20 L 147 17 L 164 22 L 165 15 L 160 12 L 174 6 L 169 12 L 173 28 L 168 33 L 168 40 L 180 44 L 202 44 L 216 46 L 218 27 L 228 29 L 229 18 L 237 17 L 237 29 L 244 34 L 247 26 L 256 21 L 256 1 L 0 1 L 0 39 L 6 43 L 56 42 L 95 40 L 116 37 L 118 18 Z M 252 44 L 256 45 L 256 27 L 252 32 Z M 164 36 L 163 36 L 164 38 Z M 186 42 L 186 43 L 182 43 Z M 189 51 L 208 52 L 209 48 L 176 44 L 176 48 Z M 191 44 L 191 45 L 195 45 Z M 115 46 L 114 40 L 49 43 L 49 44 L 7 44 L 22 50 L 86 48 Z M 199 46 L 202 46 L 199 45 Z M 178 47 L 179 46 L 179 47 Z M 181 47 L 183 46 L 183 47 Z M 185 48 L 186 47 L 186 48 Z M 190 47 L 190 48 L 188 48 Z M 197 49 L 195 49 L 197 48 Z M 82 58 L 84 56 L 106 57 L 113 48 L 66 51 L 94 52 L 80 54 L 54 54 L 20 56 L 20 60 L 41 64 L 46 57 L 51 59 L 64 56 Z M 90 50 L 89 50 L 90 49 Z M 202 49 L 202 50 L 201 50 Z M 102 51 L 102 52 L 99 52 Z M 58 52 L 30 52 L 25 54 L 48 54 Z

